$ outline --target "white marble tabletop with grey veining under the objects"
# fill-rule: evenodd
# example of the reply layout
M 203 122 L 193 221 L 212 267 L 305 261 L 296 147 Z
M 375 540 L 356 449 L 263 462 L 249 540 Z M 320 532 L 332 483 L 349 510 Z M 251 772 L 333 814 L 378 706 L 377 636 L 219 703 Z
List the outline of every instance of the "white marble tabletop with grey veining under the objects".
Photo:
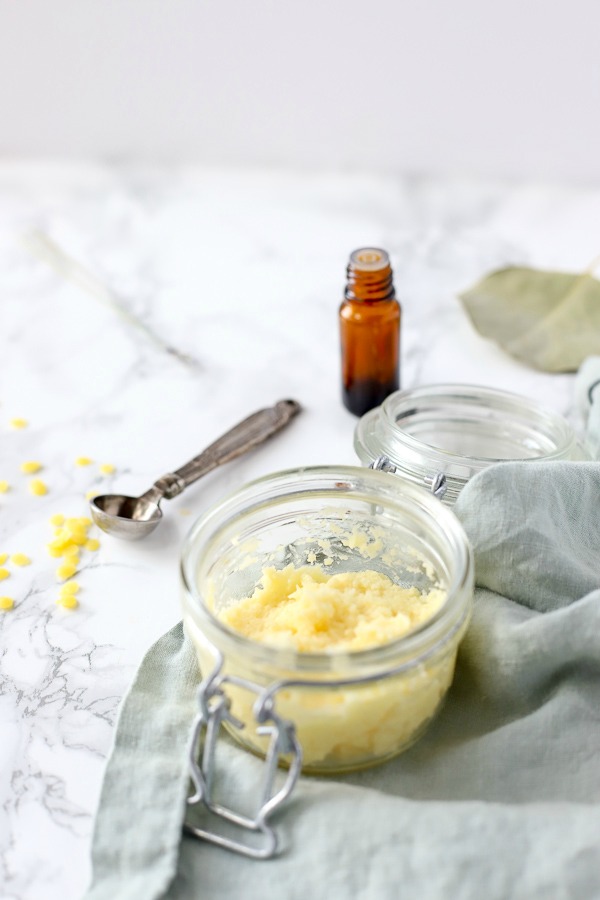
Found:
M 72 900 L 89 877 L 92 817 L 119 701 L 179 617 L 178 549 L 192 516 L 269 471 L 355 462 L 339 400 L 346 258 L 388 248 L 404 309 L 404 387 L 517 390 L 575 420 L 573 377 L 517 364 L 469 325 L 456 293 L 500 264 L 581 269 L 597 254 L 600 190 L 332 173 L 0 164 L 0 896 Z M 188 368 L 34 258 L 42 229 L 154 329 Z M 165 504 L 134 545 L 84 554 L 80 607 L 56 606 L 56 512 L 86 491 L 134 493 L 253 410 L 305 407 L 289 429 Z M 28 428 L 9 421 L 21 416 Z M 94 460 L 78 468 L 74 460 Z M 44 465 L 45 497 L 19 471 Z M 116 473 L 102 477 L 98 463 Z

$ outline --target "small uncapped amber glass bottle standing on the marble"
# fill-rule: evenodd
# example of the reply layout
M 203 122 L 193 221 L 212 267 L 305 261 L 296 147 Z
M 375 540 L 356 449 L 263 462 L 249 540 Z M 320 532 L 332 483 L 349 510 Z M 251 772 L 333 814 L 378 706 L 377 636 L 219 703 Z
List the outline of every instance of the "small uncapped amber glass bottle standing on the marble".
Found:
M 350 254 L 340 306 L 342 397 L 362 416 L 400 387 L 400 304 L 385 250 Z

